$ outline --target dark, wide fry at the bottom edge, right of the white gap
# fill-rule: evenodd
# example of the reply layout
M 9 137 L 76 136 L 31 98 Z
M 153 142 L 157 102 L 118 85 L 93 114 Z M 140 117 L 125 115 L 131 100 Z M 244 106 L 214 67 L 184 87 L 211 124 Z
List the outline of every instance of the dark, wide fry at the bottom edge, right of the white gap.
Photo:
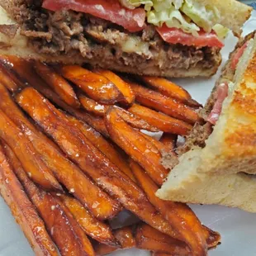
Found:
M 164 252 L 171 255 L 191 255 L 191 251 L 187 248 L 187 244 L 183 243 L 182 241 L 178 241 L 177 239 L 168 237 L 158 230 L 154 230 L 149 225 L 141 224 L 137 227 L 135 232 L 135 240 L 136 247 L 139 249 Z

